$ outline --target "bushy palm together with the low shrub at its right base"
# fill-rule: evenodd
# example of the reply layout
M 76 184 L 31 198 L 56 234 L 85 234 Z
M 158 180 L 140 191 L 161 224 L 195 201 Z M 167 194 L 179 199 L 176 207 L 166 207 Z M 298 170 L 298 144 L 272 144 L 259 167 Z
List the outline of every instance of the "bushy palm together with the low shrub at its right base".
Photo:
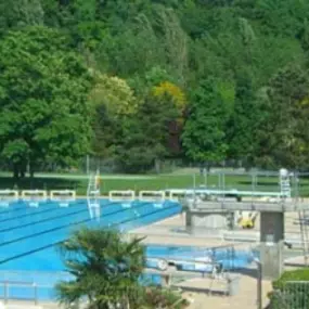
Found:
M 70 281 L 56 285 L 65 308 L 88 300 L 89 309 L 185 308 L 186 301 L 169 289 L 142 286 L 145 257 L 142 239 L 124 241 L 117 231 L 83 228 L 60 245 Z

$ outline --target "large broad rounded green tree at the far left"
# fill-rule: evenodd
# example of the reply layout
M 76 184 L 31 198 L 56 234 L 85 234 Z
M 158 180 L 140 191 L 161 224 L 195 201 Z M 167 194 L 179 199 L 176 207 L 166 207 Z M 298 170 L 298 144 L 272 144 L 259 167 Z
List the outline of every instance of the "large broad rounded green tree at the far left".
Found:
M 23 176 L 42 162 L 72 166 L 90 145 L 92 79 L 59 31 L 27 27 L 0 41 L 0 152 Z

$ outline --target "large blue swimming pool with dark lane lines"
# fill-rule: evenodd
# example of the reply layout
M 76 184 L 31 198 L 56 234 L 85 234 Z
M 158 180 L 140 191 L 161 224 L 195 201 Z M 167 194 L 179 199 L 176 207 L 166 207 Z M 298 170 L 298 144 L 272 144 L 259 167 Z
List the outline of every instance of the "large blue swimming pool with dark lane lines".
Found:
M 93 218 L 86 199 L 60 207 L 56 202 L 41 202 L 29 207 L 29 202 L 18 201 L 0 209 L 0 281 L 18 282 L 11 287 L 14 298 L 33 298 L 36 282 L 39 299 L 52 297 L 51 286 L 67 274 L 56 250 L 56 245 L 81 226 L 113 227 L 121 231 L 146 226 L 181 211 L 178 203 L 128 203 L 100 201 L 100 216 Z M 22 283 L 25 286 L 21 287 Z M 0 286 L 0 297 L 4 289 Z

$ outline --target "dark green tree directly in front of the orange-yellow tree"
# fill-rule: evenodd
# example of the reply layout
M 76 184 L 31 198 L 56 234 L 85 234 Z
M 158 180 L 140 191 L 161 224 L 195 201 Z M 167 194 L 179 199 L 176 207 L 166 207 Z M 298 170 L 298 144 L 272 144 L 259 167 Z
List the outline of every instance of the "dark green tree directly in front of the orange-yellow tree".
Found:
M 144 172 L 167 156 L 170 153 L 168 125 L 179 116 L 170 98 L 149 93 L 138 113 L 123 123 L 117 162 L 124 170 Z

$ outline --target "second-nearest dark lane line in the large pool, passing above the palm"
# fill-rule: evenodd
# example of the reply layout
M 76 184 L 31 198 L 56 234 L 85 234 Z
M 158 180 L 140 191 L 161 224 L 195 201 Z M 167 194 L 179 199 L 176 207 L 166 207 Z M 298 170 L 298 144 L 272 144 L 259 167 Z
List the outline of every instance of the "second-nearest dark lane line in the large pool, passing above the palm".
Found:
M 117 204 L 117 202 L 107 203 L 107 205 L 105 205 L 105 206 L 111 206 L 111 205 L 114 205 L 114 204 Z M 140 208 L 140 207 L 142 207 L 143 205 L 146 205 L 146 204 L 149 204 L 149 203 L 139 204 L 136 208 Z M 104 214 L 104 215 L 100 216 L 100 218 L 103 218 L 103 216 L 105 216 L 104 218 L 106 218 L 108 216 L 112 216 L 112 215 L 115 215 L 115 214 L 118 214 L 118 213 L 123 213 L 124 210 L 129 210 L 129 209 L 132 209 L 132 208 L 120 208 L 117 211 L 110 213 L 110 214 Z M 36 237 L 36 236 L 39 236 L 39 235 L 48 234 L 50 232 L 54 232 L 54 231 L 57 231 L 57 230 L 62 230 L 62 229 L 65 229 L 67 227 L 70 227 L 70 226 L 78 226 L 80 223 L 85 223 L 85 222 L 88 222 L 88 221 L 91 221 L 91 220 L 92 220 L 91 218 L 88 218 L 88 219 L 83 219 L 81 221 L 70 222 L 70 223 L 67 223 L 67 224 L 64 224 L 64 226 L 60 226 L 60 227 L 55 227 L 55 228 L 52 228 L 52 229 L 49 229 L 49 230 L 37 232 L 37 233 L 34 233 L 34 234 L 30 234 L 30 235 L 27 235 L 27 236 L 22 236 L 22 237 L 18 237 L 18 239 L 7 241 L 7 242 L 3 242 L 3 243 L 0 243 L 0 247 L 5 246 L 5 245 L 10 245 L 10 244 L 13 244 L 13 243 L 16 243 L 16 242 L 21 242 L 21 241 L 24 241 L 24 240 L 27 240 L 27 239 L 31 239 L 31 237 Z

